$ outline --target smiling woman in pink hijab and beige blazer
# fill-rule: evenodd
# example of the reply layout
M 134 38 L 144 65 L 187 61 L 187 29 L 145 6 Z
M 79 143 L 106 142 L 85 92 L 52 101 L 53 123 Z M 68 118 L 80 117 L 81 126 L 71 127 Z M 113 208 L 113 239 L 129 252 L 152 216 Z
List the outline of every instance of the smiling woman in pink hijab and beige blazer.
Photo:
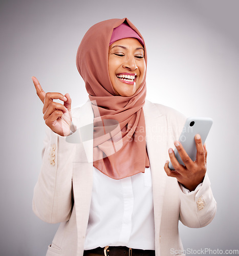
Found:
M 90 99 L 78 109 L 33 77 L 50 127 L 33 210 L 61 222 L 47 255 L 185 255 L 178 221 L 202 227 L 216 211 L 200 136 L 192 162 L 176 141 L 185 117 L 145 101 L 145 42 L 127 18 L 91 27 L 76 63 Z

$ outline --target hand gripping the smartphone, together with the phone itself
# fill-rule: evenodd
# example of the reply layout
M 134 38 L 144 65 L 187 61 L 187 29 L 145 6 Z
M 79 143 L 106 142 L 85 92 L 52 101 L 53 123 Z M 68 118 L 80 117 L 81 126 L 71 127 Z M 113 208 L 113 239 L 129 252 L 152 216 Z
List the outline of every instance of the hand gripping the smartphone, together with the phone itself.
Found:
M 169 148 L 171 163 L 166 161 L 164 170 L 167 176 L 177 178 L 190 191 L 203 182 L 206 174 L 207 150 L 203 144 L 211 125 L 210 118 L 188 118 L 179 141 L 175 141 L 175 152 Z

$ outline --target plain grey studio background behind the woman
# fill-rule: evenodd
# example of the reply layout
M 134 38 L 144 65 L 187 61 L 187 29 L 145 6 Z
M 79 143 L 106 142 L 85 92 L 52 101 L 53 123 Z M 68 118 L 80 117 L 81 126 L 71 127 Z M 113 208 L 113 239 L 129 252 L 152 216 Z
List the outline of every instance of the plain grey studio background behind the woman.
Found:
M 238 248 L 237 0 L 1 1 L 0 254 L 45 255 L 58 225 L 32 212 L 45 124 L 31 76 L 46 92 L 88 96 L 75 56 L 84 33 L 128 17 L 148 51 L 147 98 L 186 116 L 208 116 L 208 175 L 218 212 L 201 229 L 180 224 L 184 248 Z

